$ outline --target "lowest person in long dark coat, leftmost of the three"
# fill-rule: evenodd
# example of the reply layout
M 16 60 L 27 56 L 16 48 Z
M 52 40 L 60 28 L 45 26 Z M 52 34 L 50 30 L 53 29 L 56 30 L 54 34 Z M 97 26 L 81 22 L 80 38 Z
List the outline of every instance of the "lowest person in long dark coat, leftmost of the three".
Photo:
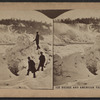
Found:
M 36 78 L 36 75 L 35 75 L 35 72 L 36 72 L 35 62 L 33 60 L 31 60 L 30 57 L 28 57 L 27 75 L 29 75 L 30 71 L 33 73 L 33 78 Z

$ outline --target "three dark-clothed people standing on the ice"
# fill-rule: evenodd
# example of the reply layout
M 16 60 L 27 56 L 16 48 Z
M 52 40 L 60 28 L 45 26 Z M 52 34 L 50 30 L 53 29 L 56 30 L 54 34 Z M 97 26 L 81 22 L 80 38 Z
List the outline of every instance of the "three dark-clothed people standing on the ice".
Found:
M 36 38 L 35 38 L 34 41 L 36 41 L 37 50 L 40 49 L 40 46 L 39 46 L 39 34 L 38 34 L 38 32 L 36 34 Z M 35 62 L 30 57 L 28 57 L 27 75 L 29 75 L 29 72 L 31 71 L 33 73 L 33 78 L 36 78 L 35 72 L 39 71 L 40 67 L 41 67 L 41 71 L 43 71 L 44 70 L 44 64 L 45 64 L 45 56 L 43 55 L 43 52 L 40 52 L 39 65 L 38 65 L 37 69 L 35 68 Z

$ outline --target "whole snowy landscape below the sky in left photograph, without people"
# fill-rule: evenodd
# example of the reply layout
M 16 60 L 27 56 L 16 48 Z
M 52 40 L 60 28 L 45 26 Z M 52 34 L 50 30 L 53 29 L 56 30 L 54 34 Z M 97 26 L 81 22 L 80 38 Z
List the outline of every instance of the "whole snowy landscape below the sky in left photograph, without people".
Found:
M 40 47 L 33 40 L 40 34 Z M 28 70 L 31 57 L 39 65 L 40 52 L 46 57 L 44 71 L 36 78 Z M 52 88 L 52 25 L 46 22 L 5 19 L 0 20 L 0 88 L 51 89 Z M 47 84 L 48 83 L 48 84 Z

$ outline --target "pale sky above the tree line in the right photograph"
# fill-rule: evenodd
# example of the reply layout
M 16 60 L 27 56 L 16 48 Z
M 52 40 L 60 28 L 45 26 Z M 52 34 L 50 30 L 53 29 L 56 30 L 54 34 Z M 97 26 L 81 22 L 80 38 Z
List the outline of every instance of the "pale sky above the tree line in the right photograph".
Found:
M 56 19 L 76 19 L 76 18 L 100 18 L 100 9 L 75 9 L 68 12 L 65 12 L 58 16 Z

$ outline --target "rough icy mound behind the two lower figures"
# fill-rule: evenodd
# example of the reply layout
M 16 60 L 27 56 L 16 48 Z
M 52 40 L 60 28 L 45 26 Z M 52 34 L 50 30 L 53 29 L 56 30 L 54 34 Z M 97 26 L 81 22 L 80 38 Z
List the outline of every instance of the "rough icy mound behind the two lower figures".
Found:
M 41 50 L 36 50 L 35 43 L 31 42 L 26 35 L 21 35 L 17 39 L 17 43 L 13 48 L 6 50 L 7 64 L 11 72 L 15 75 L 27 67 L 27 57 L 31 57 L 36 64 L 39 63 L 38 59 L 40 52 L 43 51 L 46 59 L 49 59 L 51 50 L 46 44 L 41 44 Z

